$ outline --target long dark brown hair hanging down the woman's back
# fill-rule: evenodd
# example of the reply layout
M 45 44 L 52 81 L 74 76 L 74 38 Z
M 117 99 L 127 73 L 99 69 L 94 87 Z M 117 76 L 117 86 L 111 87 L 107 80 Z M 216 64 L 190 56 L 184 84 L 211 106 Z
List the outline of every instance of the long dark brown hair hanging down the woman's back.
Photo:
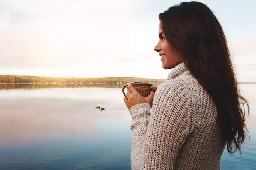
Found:
M 216 16 L 201 2 L 182 2 L 159 14 L 159 20 L 166 40 L 182 54 L 184 64 L 215 102 L 227 151 L 241 153 L 247 128 L 240 104 L 246 104 L 248 112 L 249 104 L 240 95 L 227 40 Z

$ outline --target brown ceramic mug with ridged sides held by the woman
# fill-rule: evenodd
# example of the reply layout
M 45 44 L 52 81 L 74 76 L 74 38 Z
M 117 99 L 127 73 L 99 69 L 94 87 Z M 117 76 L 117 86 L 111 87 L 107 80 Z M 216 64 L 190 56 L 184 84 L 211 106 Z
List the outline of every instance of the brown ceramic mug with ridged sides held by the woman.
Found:
M 131 82 L 131 84 L 143 97 L 147 97 L 150 94 L 151 86 L 153 86 L 152 83 L 143 83 L 143 82 Z M 126 87 L 128 87 L 128 84 L 124 85 L 122 89 L 125 97 L 126 97 L 126 94 L 124 93 L 124 89 Z

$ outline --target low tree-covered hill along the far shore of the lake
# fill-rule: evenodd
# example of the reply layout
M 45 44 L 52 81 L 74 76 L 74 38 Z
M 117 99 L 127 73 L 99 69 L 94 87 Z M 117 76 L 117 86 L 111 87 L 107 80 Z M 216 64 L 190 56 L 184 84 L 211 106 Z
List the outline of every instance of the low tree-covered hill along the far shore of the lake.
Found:
M 56 77 L 38 77 L 38 76 L 16 76 L 16 75 L 0 75 L 0 83 L 74 83 L 74 84 L 126 84 L 128 82 L 149 82 L 162 83 L 165 79 L 145 79 L 137 77 L 105 77 L 105 78 L 56 78 Z

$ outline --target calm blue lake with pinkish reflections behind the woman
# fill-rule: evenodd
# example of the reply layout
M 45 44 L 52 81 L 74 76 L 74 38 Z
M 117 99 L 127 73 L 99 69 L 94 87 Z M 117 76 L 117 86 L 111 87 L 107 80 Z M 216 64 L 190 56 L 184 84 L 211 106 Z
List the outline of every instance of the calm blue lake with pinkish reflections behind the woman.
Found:
M 242 156 L 224 151 L 221 170 L 256 170 L 256 84 L 240 88 L 251 106 L 250 140 Z M 0 89 L 0 170 L 130 169 L 132 121 L 120 85 Z

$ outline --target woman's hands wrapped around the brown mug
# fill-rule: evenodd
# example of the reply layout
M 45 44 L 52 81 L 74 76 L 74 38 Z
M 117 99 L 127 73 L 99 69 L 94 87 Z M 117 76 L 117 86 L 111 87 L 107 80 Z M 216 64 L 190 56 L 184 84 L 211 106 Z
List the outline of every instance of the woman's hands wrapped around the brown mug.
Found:
M 153 88 L 153 89 L 152 89 Z M 157 86 L 152 87 L 152 91 L 148 95 L 148 97 L 143 97 L 133 86 L 131 83 L 128 84 L 127 95 L 124 97 L 124 102 L 128 109 L 132 108 L 136 104 L 141 103 L 151 103 Z

